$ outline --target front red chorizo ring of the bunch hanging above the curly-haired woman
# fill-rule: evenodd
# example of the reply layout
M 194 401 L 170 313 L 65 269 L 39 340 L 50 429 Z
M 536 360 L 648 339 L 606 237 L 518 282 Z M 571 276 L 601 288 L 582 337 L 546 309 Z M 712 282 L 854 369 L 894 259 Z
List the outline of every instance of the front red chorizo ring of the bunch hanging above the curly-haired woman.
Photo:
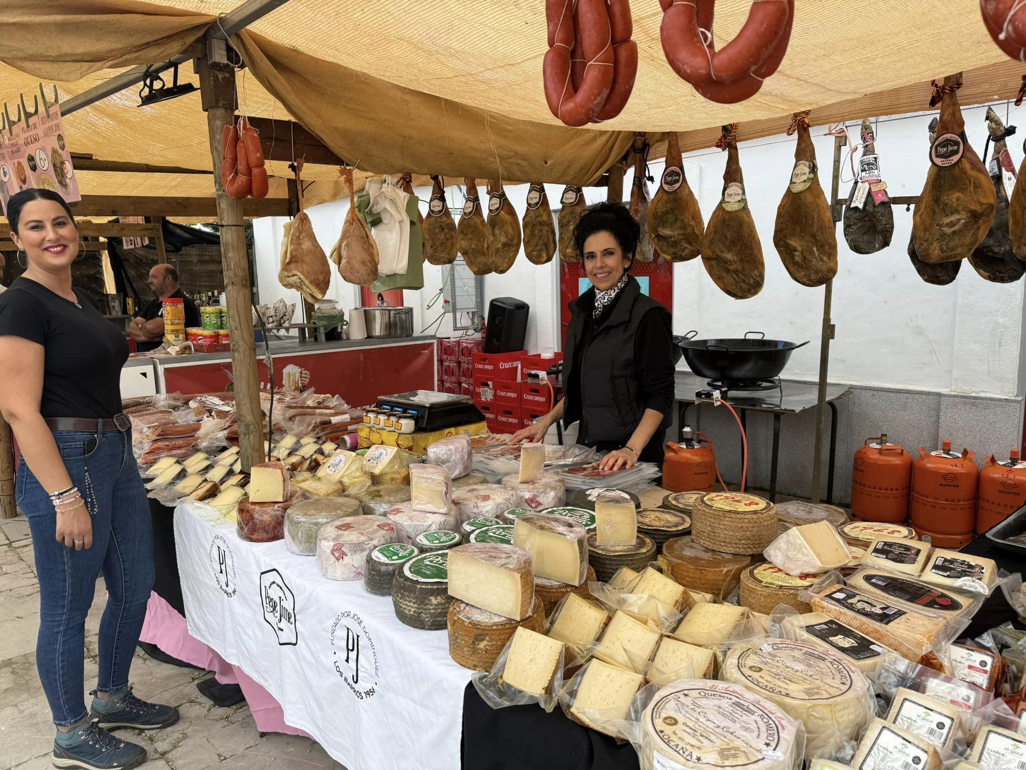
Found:
M 605 0 L 580 0 L 581 27 L 575 34 L 573 0 L 546 0 L 549 38 L 554 41 L 545 54 L 543 75 L 545 100 L 552 114 L 569 126 L 593 120 L 605 104 L 613 86 L 614 56 L 609 15 Z M 558 18 L 553 30 L 553 18 Z M 580 35 L 587 62 L 581 87 L 570 75 L 570 51 Z

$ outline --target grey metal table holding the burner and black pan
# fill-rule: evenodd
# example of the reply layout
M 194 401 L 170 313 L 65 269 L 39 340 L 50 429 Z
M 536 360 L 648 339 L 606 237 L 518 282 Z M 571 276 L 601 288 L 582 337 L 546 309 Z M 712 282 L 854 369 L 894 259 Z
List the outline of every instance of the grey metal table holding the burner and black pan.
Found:
M 681 439 L 679 431 L 683 430 L 688 408 L 697 403 L 695 393 L 708 389 L 708 381 L 690 372 L 677 372 L 674 382 L 674 400 L 677 402 L 677 439 Z M 773 455 L 770 465 L 770 500 L 777 499 L 777 461 L 780 455 L 780 419 L 782 415 L 798 414 L 812 409 L 817 403 L 819 385 L 815 382 L 797 380 L 781 380 L 780 387 L 772 390 L 732 390 L 724 395 L 725 400 L 739 414 L 741 424 L 746 427 L 746 414 L 753 412 L 768 412 L 773 415 Z M 849 394 L 846 385 L 827 383 L 826 402 L 830 407 L 830 457 L 827 471 L 826 502 L 833 502 L 834 461 L 837 449 L 837 405 L 838 398 Z M 747 427 L 746 427 L 747 430 Z

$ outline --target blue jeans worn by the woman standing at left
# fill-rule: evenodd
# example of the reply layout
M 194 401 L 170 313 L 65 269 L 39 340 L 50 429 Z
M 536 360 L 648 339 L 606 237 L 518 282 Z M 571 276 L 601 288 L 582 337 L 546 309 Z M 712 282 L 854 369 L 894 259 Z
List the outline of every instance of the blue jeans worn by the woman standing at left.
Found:
M 107 609 L 100 622 L 97 689 L 128 685 L 135 645 L 153 587 L 153 534 L 146 490 L 131 451 L 131 432 L 53 434 L 74 484 L 95 496 L 92 547 L 75 550 L 56 540 L 56 513 L 25 463 L 17 469 L 16 501 L 29 519 L 39 575 L 40 623 L 36 667 L 53 723 L 68 727 L 88 711 L 83 696 L 85 616 L 101 570 Z M 87 500 L 92 509 L 91 499 Z

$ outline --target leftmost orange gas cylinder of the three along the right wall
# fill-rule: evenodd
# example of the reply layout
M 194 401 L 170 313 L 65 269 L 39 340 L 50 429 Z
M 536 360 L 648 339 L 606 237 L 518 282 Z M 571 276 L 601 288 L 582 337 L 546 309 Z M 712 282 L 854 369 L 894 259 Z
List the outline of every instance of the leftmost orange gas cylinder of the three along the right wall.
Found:
M 863 522 L 902 524 L 908 519 L 912 456 L 887 444 L 887 434 L 867 438 L 852 464 L 852 515 Z

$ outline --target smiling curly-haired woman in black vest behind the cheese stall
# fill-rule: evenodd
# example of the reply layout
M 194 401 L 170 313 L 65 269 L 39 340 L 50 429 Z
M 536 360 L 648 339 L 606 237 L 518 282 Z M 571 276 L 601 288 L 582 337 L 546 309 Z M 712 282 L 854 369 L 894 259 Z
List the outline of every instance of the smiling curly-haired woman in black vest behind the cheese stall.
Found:
M 512 444 L 543 440 L 557 420 L 580 421 L 578 442 L 608 452 L 600 467 L 662 465 L 673 408 L 672 318 L 629 274 L 640 235 L 621 203 L 596 203 L 581 217 L 574 240 L 592 287 L 569 304 L 564 396 Z

